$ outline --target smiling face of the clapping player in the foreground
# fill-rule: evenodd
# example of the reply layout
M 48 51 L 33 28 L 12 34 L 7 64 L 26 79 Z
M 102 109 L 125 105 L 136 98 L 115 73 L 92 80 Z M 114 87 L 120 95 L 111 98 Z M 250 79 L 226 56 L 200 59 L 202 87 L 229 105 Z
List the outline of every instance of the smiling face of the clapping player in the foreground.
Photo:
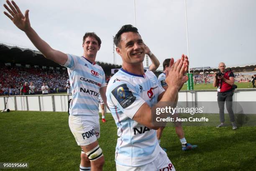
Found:
M 126 32 L 120 36 L 120 45 L 116 48 L 123 63 L 142 63 L 145 57 L 145 46 L 138 33 Z

